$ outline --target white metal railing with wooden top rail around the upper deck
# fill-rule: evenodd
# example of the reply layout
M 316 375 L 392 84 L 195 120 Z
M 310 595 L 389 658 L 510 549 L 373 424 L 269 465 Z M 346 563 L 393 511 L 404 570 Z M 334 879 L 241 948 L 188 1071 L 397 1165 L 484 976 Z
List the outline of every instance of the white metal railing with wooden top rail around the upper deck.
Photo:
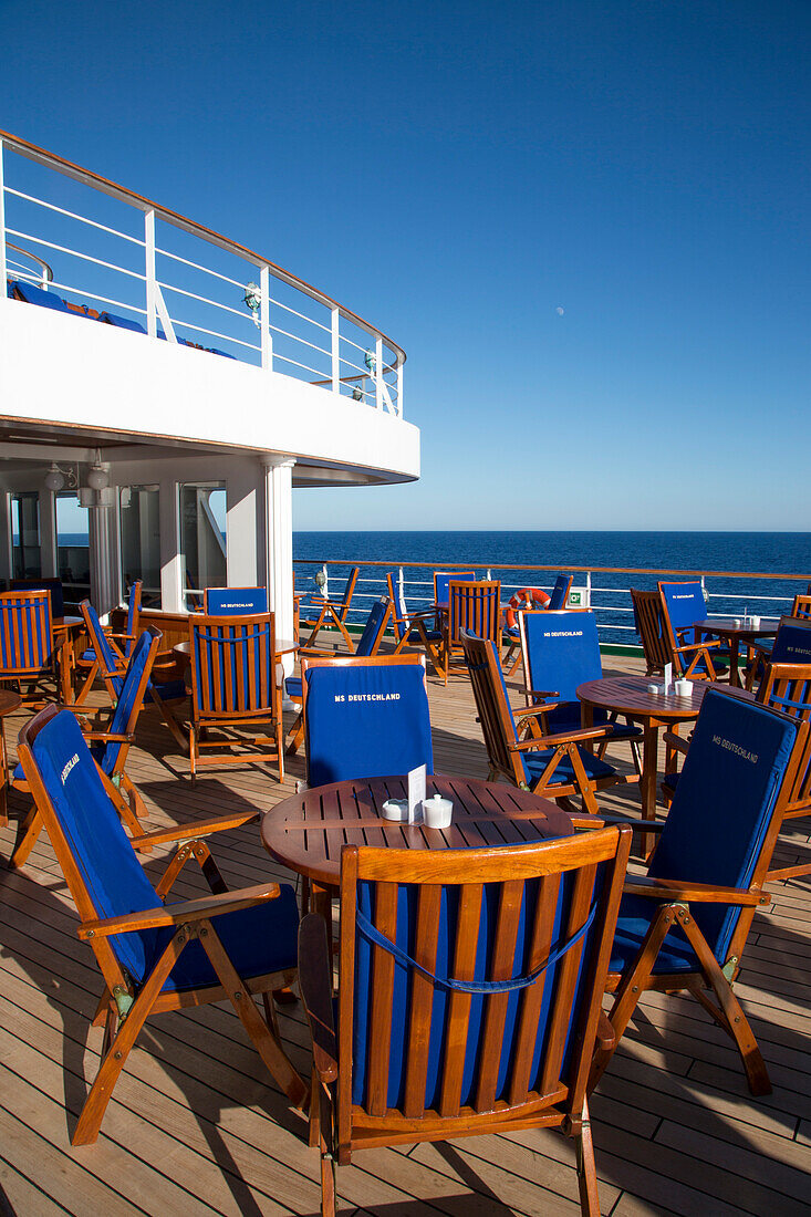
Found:
M 55 273 L 34 275 L 16 241 Z M 1 131 L 0 276 L 403 415 L 406 354 L 375 326 L 239 242 Z

